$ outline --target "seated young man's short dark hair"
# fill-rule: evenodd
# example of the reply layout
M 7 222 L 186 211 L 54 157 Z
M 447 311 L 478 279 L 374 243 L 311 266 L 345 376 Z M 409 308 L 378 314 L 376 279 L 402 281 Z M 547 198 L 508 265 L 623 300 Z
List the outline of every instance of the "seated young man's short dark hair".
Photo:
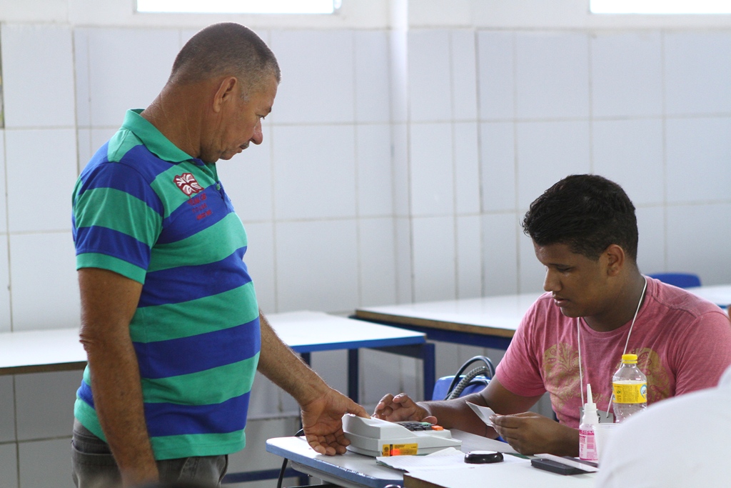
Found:
M 637 262 L 637 217 L 624 189 L 597 175 L 572 175 L 531 203 L 523 232 L 539 246 L 567 244 L 598 260 L 610 244 Z

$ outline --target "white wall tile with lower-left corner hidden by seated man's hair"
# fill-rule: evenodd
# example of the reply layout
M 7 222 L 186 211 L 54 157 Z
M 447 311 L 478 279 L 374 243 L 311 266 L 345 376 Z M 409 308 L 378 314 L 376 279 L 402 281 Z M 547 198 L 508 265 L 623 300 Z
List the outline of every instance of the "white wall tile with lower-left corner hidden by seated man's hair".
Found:
M 620 184 L 635 206 L 662 203 L 662 135 L 661 119 L 595 121 L 594 173 Z

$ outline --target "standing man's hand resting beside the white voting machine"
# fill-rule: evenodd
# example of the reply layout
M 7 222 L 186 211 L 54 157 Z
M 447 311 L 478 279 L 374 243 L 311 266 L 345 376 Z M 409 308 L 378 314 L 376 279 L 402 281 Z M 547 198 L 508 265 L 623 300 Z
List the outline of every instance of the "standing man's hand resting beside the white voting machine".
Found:
M 343 416 L 353 413 L 370 418 L 368 412 L 339 391 L 329 388 L 302 409 L 302 426 L 307 443 L 319 454 L 344 454 L 350 441 L 343 432 Z

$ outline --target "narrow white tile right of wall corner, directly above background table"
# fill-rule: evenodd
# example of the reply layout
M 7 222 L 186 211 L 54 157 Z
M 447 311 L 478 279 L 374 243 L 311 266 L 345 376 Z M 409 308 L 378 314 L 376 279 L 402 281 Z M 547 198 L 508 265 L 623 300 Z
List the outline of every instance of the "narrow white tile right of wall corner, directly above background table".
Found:
M 414 301 L 457 298 L 454 218 L 415 218 L 412 225 Z

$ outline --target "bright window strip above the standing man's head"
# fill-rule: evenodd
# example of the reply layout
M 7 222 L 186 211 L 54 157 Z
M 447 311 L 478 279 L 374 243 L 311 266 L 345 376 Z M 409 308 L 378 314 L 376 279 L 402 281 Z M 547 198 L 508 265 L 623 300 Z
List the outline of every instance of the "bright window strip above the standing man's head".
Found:
M 341 0 L 137 0 L 137 12 L 332 14 Z

